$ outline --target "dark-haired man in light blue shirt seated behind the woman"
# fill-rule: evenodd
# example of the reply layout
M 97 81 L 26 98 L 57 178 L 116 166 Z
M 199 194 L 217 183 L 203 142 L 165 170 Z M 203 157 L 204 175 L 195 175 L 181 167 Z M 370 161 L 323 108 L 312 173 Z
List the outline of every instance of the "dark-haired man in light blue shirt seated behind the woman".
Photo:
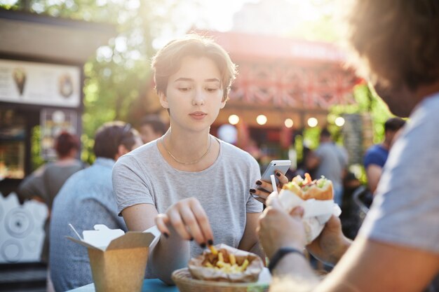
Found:
M 95 224 L 127 231 L 123 219 L 117 216 L 112 168 L 121 155 L 140 145 L 140 134 L 129 124 L 105 123 L 95 134 L 93 165 L 71 176 L 58 193 L 53 202 L 49 262 L 56 291 L 93 282 L 87 249 L 65 238 L 72 236 L 69 223 L 79 233 L 94 230 Z

